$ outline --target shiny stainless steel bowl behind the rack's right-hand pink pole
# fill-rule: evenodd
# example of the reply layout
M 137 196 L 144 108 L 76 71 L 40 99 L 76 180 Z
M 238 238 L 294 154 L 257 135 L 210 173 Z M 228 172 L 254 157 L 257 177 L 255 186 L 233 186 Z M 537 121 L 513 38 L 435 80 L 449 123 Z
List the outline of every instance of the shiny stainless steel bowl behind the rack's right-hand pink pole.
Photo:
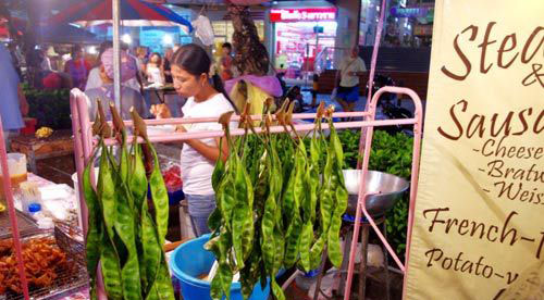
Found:
M 346 213 L 355 216 L 361 171 L 344 170 L 343 173 L 349 193 Z M 387 212 L 410 187 L 410 184 L 406 179 L 378 171 L 369 171 L 366 182 L 367 191 L 374 193 L 367 197 L 367 211 L 372 216 L 381 216 Z

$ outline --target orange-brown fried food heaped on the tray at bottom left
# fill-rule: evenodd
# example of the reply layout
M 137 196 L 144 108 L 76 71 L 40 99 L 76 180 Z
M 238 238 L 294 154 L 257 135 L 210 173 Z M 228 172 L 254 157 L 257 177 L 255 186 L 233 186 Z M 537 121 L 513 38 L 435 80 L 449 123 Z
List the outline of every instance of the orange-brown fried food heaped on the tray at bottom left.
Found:
M 0 295 L 11 290 L 22 293 L 17 260 L 11 250 L 12 240 L 0 240 Z M 23 261 L 29 288 L 46 288 L 60 274 L 70 274 L 73 267 L 51 237 L 34 238 L 23 243 Z

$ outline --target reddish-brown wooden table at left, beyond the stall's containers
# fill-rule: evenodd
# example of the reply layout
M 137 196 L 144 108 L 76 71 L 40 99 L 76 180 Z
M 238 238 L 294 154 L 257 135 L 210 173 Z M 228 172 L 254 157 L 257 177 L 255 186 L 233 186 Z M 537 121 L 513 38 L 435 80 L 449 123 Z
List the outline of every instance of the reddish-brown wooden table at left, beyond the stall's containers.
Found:
M 26 154 L 30 172 L 37 173 L 36 161 L 74 153 L 72 130 L 55 130 L 48 138 L 36 138 L 34 135 L 23 135 L 12 139 L 13 152 Z

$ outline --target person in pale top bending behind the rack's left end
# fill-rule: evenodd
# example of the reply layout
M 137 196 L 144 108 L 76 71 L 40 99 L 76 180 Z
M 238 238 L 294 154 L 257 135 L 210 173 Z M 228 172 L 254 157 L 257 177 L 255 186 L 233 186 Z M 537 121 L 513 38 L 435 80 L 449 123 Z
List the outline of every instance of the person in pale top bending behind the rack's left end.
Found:
M 97 99 L 102 101 L 102 105 L 104 108 L 104 112 L 108 114 L 108 118 L 111 120 L 109 103 L 110 101 L 114 101 L 113 95 L 113 49 L 109 48 L 106 50 L 100 61 L 102 64 L 100 65 L 100 78 L 102 80 L 102 85 L 96 88 L 91 88 L 85 91 L 88 97 L 88 107 L 89 107 L 89 117 L 91 121 L 95 120 L 98 107 Z M 137 66 L 134 64 L 134 60 L 132 60 L 126 52 L 121 52 L 121 82 L 125 83 L 126 80 L 134 78 L 136 76 Z M 131 107 L 143 116 L 147 116 L 147 111 L 145 109 L 144 99 L 141 95 L 129 87 L 121 86 L 121 108 L 118 108 L 121 112 L 121 116 L 123 120 L 131 120 Z

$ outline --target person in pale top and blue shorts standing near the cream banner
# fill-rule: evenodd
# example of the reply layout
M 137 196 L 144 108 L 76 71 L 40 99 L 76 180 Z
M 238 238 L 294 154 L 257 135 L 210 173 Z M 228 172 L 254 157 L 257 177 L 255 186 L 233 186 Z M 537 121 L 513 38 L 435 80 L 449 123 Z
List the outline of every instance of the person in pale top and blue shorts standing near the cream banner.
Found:
M 350 55 L 339 65 L 336 78 L 339 78 L 336 100 L 344 112 L 353 112 L 355 103 L 359 100 L 359 76 L 364 75 L 367 67 L 359 58 L 359 47 L 351 48 Z M 337 84 L 337 83 L 336 83 Z

